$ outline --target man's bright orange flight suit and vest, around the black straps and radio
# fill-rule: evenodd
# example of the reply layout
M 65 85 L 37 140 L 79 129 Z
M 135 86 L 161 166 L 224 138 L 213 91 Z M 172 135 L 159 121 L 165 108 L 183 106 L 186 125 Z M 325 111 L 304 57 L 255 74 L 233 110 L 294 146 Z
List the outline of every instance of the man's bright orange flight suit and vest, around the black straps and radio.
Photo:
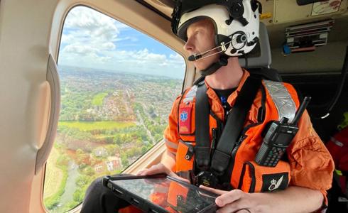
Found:
M 229 95 L 227 102 L 232 106 L 236 101 L 242 85 L 244 84 L 249 72 L 243 71 L 244 75 L 241 78 L 239 86 L 232 94 Z M 207 96 L 210 102 L 210 109 L 221 121 L 224 121 L 224 109 L 217 97 L 214 90 L 205 82 L 207 86 Z M 288 94 L 293 99 L 296 109 L 299 106 L 298 96 L 295 89 L 287 83 L 281 83 L 286 88 Z M 263 88 L 265 88 L 265 82 L 262 82 Z M 193 88 L 193 87 L 192 87 Z M 184 94 L 178 97 L 173 103 L 173 108 L 169 115 L 169 124 L 165 129 L 164 138 L 165 145 L 170 153 L 173 153 L 176 158 L 176 165 L 172 170 L 174 172 L 192 170 L 194 155 L 187 160 L 185 156 L 187 154 L 187 144 L 195 146 L 195 94 L 192 96 L 194 90 L 187 89 Z M 234 168 L 232 170 L 231 185 L 234 188 L 240 188 L 245 192 L 260 192 L 262 181 L 262 175 L 272 173 L 273 168 L 261 167 L 254 161 L 256 153 L 261 146 L 262 138 L 261 132 L 265 128 L 269 121 L 278 121 L 278 110 L 276 105 L 266 92 L 259 92 L 256 94 L 254 103 L 251 105 L 251 109 L 247 113 L 244 128 L 247 127 L 244 133 L 244 140 L 241 142 L 236 155 L 234 157 Z M 188 95 L 187 95 L 188 94 Z M 266 94 L 266 98 L 263 97 Z M 264 104 L 262 104 L 264 102 Z M 258 120 L 258 113 L 260 107 L 266 107 L 266 115 L 263 121 Z M 188 119 L 190 124 L 185 126 L 179 126 L 180 114 L 179 111 L 185 109 L 189 111 Z M 187 119 L 187 114 L 185 115 Z M 308 112 L 305 111 L 298 123 L 298 133 L 293 138 L 292 143 L 287 148 L 288 162 L 280 161 L 276 169 L 288 172 L 288 185 L 295 185 L 300 187 L 308 187 L 313 190 L 320 190 L 325 197 L 325 203 L 327 204 L 327 192 L 330 189 L 332 183 L 332 171 L 334 170 L 334 163 L 330 153 L 325 148 L 324 143 L 320 140 L 317 133 L 312 128 L 310 117 Z M 217 121 L 212 115 L 210 115 L 210 130 L 217 128 Z M 212 141 L 212 131 L 210 131 L 210 141 Z M 187 157 L 187 156 L 186 156 Z M 246 167 L 244 171 L 243 167 Z M 254 172 L 251 170 L 254 167 Z M 242 175 L 242 172 L 244 173 Z M 251 189 L 251 182 L 247 173 L 255 173 L 256 184 Z

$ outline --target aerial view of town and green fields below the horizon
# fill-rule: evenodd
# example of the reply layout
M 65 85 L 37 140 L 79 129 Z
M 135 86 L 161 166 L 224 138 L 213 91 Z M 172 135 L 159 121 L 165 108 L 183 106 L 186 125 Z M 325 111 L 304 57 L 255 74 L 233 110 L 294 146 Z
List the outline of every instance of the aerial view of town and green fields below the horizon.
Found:
M 121 173 L 163 138 L 183 79 L 59 67 L 61 107 L 44 203 L 66 212 L 95 178 Z

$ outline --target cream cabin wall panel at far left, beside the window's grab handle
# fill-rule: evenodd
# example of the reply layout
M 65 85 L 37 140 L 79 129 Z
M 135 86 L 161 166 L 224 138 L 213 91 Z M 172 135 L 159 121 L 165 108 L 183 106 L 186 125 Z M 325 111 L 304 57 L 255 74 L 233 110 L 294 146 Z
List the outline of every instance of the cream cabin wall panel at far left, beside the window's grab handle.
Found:
M 28 212 L 43 116 L 48 41 L 58 1 L 0 6 L 0 212 Z M 41 125 L 39 125 L 41 123 Z

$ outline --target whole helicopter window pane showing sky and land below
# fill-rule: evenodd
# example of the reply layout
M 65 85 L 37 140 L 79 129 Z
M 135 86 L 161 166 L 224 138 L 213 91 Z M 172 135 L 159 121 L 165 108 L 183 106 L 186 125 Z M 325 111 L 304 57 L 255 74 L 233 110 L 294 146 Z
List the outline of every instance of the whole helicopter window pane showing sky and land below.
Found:
M 163 138 L 185 60 L 157 40 L 85 6 L 65 19 L 61 107 L 45 172 L 48 212 L 80 204 L 90 182 L 121 173 Z

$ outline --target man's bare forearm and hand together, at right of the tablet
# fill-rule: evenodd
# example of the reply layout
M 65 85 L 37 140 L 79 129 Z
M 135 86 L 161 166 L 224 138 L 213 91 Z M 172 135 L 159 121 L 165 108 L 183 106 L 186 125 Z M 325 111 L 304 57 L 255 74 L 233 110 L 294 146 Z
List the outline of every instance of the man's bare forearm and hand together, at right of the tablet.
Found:
M 286 190 L 269 193 L 246 193 L 241 190 L 222 191 L 200 186 L 220 195 L 215 200 L 217 212 L 238 213 L 293 213 L 316 212 L 322 205 L 323 195 L 319 190 L 290 186 Z

